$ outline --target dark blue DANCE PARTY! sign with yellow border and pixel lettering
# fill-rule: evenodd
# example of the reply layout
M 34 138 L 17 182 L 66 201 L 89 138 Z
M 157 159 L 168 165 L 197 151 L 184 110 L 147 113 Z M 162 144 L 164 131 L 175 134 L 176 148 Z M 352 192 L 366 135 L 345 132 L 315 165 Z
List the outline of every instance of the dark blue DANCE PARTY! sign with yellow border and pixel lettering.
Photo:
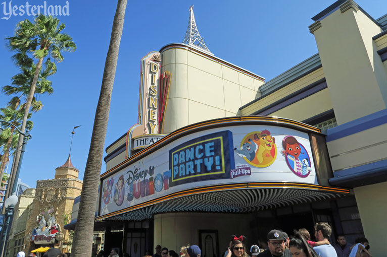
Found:
M 183 143 L 169 151 L 171 186 L 226 178 L 234 165 L 232 133 L 222 131 Z

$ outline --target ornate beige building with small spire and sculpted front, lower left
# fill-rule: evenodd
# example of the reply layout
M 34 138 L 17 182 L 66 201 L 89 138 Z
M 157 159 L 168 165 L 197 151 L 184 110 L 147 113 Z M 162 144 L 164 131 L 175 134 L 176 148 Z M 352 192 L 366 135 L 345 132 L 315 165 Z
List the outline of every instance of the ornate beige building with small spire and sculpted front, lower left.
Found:
M 63 226 L 70 222 L 74 199 L 82 189 L 79 171 L 67 161 L 55 169 L 54 179 L 36 181 L 36 189 L 27 189 L 15 207 L 7 255 L 22 250 L 29 254 L 40 246 L 59 247 L 71 251 L 69 231 Z M 15 220 L 16 218 L 16 220 Z

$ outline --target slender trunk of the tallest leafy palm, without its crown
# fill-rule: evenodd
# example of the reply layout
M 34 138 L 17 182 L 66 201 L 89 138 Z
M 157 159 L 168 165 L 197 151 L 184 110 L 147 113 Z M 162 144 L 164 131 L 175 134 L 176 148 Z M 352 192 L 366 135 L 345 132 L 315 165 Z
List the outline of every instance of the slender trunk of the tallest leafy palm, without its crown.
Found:
M 29 113 L 29 110 L 30 110 L 30 107 L 31 107 L 33 95 L 35 94 L 36 83 L 37 83 L 37 80 L 39 78 L 39 73 L 40 73 L 40 69 L 41 69 L 41 65 L 42 65 L 43 59 L 44 59 L 44 57 L 40 57 L 38 62 L 37 62 L 35 73 L 34 73 L 34 76 L 33 76 L 33 79 L 32 79 L 32 84 L 31 84 L 30 92 L 28 94 L 28 97 L 27 97 L 27 100 L 26 100 L 26 104 L 24 106 L 24 116 L 23 116 L 23 122 L 22 122 L 22 127 L 21 127 L 21 132 L 22 133 L 24 133 L 25 129 L 26 129 L 28 113 Z M 11 170 L 11 173 L 13 174 L 12 178 L 11 178 L 12 184 L 8 184 L 8 187 L 9 187 L 9 190 L 7 190 L 9 192 L 8 195 L 11 195 L 12 188 L 14 186 L 13 184 L 15 182 L 16 170 L 18 169 L 18 165 L 19 165 L 19 159 L 20 159 L 23 139 L 24 139 L 24 136 L 22 134 L 19 134 L 18 146 L 16 147 L 16 155 L 15 155 L 15 158 L 14 158 L 14 163 L 12 164 L 13 168 Z M 16 181 L 16 183 L 17 183 L 17 181 Z

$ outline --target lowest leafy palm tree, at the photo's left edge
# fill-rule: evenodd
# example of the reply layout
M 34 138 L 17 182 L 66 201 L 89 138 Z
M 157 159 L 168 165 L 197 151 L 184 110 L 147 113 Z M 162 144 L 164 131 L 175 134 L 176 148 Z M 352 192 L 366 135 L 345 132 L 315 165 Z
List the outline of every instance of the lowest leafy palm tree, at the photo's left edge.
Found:
M 8 106 L 6 108 L 0 108 L 0 111 L 2 112 L 0 114 L 0 118 L 12 123 L 14 126 L 19 127 L 22 120 L 23 120 L 23 114 L 24 114 L 24 108 L 16 109 L 15 106 Z M 28 115 L 31 116 L 31 113 Z M 32 127 L 32 121 L 28 121 L 28 127 Z M 4 140 L 7 140 L 6 145 L 3 147 L 4 154 L 1 159 L 1 165 L 0 165 L 0 178 L 3 177 L 4 169 L 6 167 L 6 164 L 9 162 L 9 153 L 11 150 L 11 144 L 12 140 L 14 139 L 14 132 L 15 127 L 11 124 L 8 124 L 6 122 L 3 122 L 2 124 L 3 131 L 0 134 L 0 137 Z

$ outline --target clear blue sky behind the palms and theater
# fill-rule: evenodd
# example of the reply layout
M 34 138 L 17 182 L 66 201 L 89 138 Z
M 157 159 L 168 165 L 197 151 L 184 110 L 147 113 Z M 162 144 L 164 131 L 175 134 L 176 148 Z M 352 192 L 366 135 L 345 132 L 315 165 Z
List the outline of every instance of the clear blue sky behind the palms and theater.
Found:
M 11 1 L 0 3 L 0 18 L 8 17 Z M 30 0 L 29 5 L 43 5 Z M 182 42 L 193 10 L 207 47 L 224 60 L 269 81 L 317 53 L 308 26 L 311 17 L 334 1 L 129 1 L 118 58 L 105 146 L 109 146 L 137 121 L 140 59 L 166 44 Z M 387 13 L 387 1 L 356 1 L 373 18 Z M 69 16 L 58 16 L 66 24 L 63 32 L 73 37 L 77 50 L 64 54 L 58 72 L 50 77 L 54 93 L 40 95 L 44 107 L 34 113 L 20 178 L 32 187 L 36 180 L 54 178 L 55 168 L 67 159 L 73 126 L 71 160 L 83 178 L 98 101 L 116 1 L 68 0 Z M 13 0 L 12 6 L 26 5 Z M 46 0 L 46 5 L 66 5 L 64 0 Z M 6 10 L 4 8 L 6 7 Z M 0 86 L 9 85 L 18 69 L 4 38 L 12 36 L 26 14 L 0 19 Z M 10 97 L 0 95 L 5 107 Z M 106 153 L 104 152 L 104 156 Z M 10 164 L 11 167 L 11 164 Z M 9 168 L 10 170 L 10 168 Z M 105 171 L 103 162 L 102 170 Z

